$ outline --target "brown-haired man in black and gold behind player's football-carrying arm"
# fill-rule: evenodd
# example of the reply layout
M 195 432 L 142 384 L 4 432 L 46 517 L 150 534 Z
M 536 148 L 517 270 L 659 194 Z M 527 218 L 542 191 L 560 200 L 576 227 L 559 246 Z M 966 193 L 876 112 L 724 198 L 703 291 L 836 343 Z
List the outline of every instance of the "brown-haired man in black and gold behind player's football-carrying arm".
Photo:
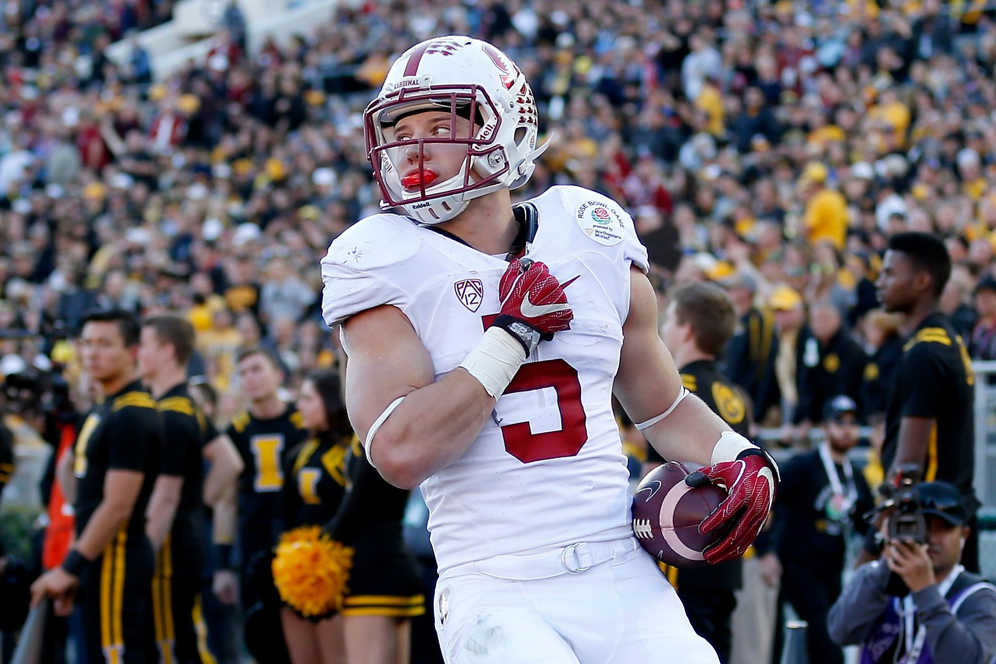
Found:
M 736 328 L 736 312 L 726 291 L 714 284 L 689 284 L 668 294 L 660 333 L 674 357 L 682 384 L 705 401 L 734 431 L 748 436 L 750 418 L 738 388 L 719 371 L 716 356 Z M 647 446 L 646 470 L 663 462 Z M 707 640 L 719 661 L 730 658 L 731 616 L 740 588 L 740 558 L 701 569 L 664 569 L 684 604 L 695 632 Z

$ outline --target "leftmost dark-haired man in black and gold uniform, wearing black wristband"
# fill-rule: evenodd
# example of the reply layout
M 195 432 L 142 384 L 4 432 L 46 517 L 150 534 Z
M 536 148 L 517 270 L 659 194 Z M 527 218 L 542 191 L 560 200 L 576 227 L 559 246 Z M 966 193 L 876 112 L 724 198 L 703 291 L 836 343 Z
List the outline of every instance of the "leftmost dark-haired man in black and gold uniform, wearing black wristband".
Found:
M 69 615 L 80 602 L 89 664 L 147 661 L 154 561 L 145 508 L 162 426 L 155 401 L 134 378 L 137 345 L 138 323 L 128 313 L 99 312 L 84 321 L 83 364 L 105 400 L 87 416 L 73 452 L 60 460 L 63 486 L 77 480 L 76 544 L 32 586 L 34 602 L 53 597 L 57 614 Z

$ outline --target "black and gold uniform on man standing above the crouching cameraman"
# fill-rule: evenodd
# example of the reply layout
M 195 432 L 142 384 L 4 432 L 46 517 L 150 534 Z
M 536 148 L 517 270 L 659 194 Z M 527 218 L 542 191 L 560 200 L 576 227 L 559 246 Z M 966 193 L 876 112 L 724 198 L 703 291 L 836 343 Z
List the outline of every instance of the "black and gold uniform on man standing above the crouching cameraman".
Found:
M 923 480 L 953 484 L 965 497 L 969 514 L 974 515 L 979 506 L 972 488 L 975 376 L 968 350 L 947 317 L 932 314 L 920 323 L 902 346 L 894 376 L 885 411 L 882 468 L 887 472 L 895 460 L 903 417 L 936 420 L 921 466 Z M 974 516 L 969 526 L 972 535 L 965 544 L 961 562 L 977 571 Z

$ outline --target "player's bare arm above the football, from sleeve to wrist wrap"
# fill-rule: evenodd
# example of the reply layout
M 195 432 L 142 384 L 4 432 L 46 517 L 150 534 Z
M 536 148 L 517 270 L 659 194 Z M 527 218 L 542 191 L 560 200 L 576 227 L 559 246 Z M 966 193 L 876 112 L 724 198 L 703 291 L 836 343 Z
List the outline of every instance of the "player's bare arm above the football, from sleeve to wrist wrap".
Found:
M 681 393 L 681 376 L 657 333 L 657 300 L 653 286 L 630 269 L 629 315 L 622 326 L 622 355 L 614 392 L 633 422 L 645 422 L 666 411 Z M 665 418 L 643 435 L 665 459 L 708 466 L 712 448 L 730 427 L 694 394 L 681 399 Z

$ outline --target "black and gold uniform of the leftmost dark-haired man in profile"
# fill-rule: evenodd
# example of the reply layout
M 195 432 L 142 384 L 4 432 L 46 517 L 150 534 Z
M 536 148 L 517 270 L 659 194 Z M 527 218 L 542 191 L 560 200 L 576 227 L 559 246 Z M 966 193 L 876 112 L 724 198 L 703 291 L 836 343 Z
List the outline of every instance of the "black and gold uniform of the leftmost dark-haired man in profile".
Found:
M 87 662 L 145 662 L 149 589 L 154 558 L 145 536 L 145 508 L 158 473 L 162 425 L 155 401 L 138 381 L 108 396 L 84 421 L 77 437 L 77 537 L 104 500 L 109 471 L 144 474 L 122 530 L 80 577 Z

